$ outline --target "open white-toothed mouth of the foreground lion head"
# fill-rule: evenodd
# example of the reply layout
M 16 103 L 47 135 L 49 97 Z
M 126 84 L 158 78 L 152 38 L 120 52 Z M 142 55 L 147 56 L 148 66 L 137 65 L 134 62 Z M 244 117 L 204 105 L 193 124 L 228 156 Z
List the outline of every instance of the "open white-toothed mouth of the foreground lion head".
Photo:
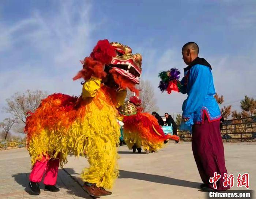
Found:
M 141 70 L 132 58 L 127 60 L 113 59 L 109 64 L 117 73 L 129 78 L 131 81 L 139 84 Z

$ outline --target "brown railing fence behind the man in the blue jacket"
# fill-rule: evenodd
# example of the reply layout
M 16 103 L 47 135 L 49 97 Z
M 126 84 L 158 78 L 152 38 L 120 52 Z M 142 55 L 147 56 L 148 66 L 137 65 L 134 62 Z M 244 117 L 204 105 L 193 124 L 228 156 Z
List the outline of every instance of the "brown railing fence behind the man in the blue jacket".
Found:
M 191 141 L 192 134 L 179 131 L 178 135 L 184 141 Z M 256 116 L 224 121 L 221 129 L 223 142 L 253 142 L 256 141 Z

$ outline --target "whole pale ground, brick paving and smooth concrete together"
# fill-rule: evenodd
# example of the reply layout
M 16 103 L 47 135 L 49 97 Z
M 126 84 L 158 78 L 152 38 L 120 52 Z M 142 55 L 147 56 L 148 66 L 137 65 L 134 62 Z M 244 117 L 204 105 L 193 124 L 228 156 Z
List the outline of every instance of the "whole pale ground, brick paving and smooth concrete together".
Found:
M 228 172 L 235 177 L 238 173 L 249 173 L 250 190 L 256 190 L 256 143 L 225 143 L 224 146 Z M 205 198 L 205 193 L 199 191 L 202 182 L 193 160 L 191 143 L 169 143 L 162 151 L 151 154 L 132 154 L 125 145 L 118 151 L 120 177 L 112 190 L 113 195 L 104 198 Z M 64 169 L 82 184 L 79 173 L 86 166 L 86 159 L 69 157 Z M 0 199 L 90 198 L 65 171 L 59 170 L 60 192 L 42 190 L 40 197 L 31 196 L 26 192 L 30 172 L 26 149 L 0 151 Z M 233 187 L 232 190 L 246 188 Z

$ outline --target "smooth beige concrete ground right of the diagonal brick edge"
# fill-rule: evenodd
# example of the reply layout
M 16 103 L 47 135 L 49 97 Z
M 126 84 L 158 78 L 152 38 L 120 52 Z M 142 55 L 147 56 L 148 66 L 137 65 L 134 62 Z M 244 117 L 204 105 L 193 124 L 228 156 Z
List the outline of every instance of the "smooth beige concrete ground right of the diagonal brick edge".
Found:
M 224 143 L 227 171 L 249 173 L 250 190 L 256 190 L 256 143 Z M 161 151 L 150 154 L 133 154 L 127 146 L 118 149 L 120 177 L 113 187 L 113 195 L 107 198 L 118 199 L 169 199 L 169 198 L 206 198 L 199 190 L 202 181 L 193 158 L 191 142 L 175 144 L 170 141 Z M 84 158 L 70 157 L 64 166 L 79 179 L 80 172 L 87 167 Z M 235 181 L 236 182 L 236 181 Z M 233 187 L 231 190 L 246 190 Z

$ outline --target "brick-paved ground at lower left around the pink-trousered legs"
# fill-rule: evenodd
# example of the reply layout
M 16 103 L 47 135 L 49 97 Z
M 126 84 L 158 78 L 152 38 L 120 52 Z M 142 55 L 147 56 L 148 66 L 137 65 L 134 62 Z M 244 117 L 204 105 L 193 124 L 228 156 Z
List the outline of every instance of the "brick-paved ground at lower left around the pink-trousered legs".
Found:
M 27 187 L 30 171 L 30 156 L 25 148 L 0 151 L 0 199 L 90 198 L 63 169 L 59 169 L 57 179 L 60 192 L 44 191 L 44 185 L 40 184 L 40 197 L 29 195 Z M 72 172 L 72 169 L 69 171 Z

